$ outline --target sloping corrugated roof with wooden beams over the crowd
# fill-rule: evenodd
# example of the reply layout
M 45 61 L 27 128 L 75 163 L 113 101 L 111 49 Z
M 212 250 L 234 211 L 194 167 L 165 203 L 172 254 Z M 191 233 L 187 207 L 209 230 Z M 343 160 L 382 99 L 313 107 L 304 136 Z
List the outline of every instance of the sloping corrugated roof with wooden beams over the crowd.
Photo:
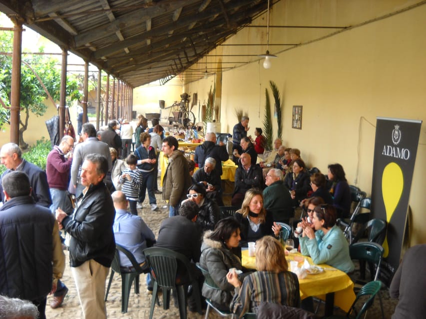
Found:
M 267 0 L 0 0 L 1 11 L 132 87 L 185 71 L 267 5 Z

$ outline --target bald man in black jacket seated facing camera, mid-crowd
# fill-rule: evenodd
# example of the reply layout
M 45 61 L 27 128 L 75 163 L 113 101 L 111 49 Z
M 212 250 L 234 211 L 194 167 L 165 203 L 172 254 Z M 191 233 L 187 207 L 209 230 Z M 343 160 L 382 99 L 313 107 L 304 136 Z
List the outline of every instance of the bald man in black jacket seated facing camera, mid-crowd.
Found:
M 253 187 L 263 188 L 262 168 L 251 164 L 248 153 L 241 154 L 241 165 L 235 170 L 235 188 L 231 205 L 241 207 L 247 190 Z

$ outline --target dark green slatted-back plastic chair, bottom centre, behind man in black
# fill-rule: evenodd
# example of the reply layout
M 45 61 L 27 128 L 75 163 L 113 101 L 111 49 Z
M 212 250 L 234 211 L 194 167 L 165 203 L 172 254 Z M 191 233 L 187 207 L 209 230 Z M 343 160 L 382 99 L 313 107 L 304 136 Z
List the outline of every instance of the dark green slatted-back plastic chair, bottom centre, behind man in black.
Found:
M 181 319 L 186 319 L 188 284 L 192 285 L 192 293 L 195 294 L 197 312 L 201 314 L 200 288 L 198 287 L 197 279 L 194 276 L 194 269 L 191 269 L 188 258 L 183 254 L 161 247 L 146 248 L 143 253 L 151 268 L 151 274 L 154 279 L 149 319 L 152 319 L 154 314 L 155 301 L 158 298 L 158 287 L 161 287 L 163 290 L 163 308 L 165 310 L 170 307 L 170 290 L 173 289 L 176 292 L 179 316 Z M 178 265 L 179 267 L 183 266 L 186 268 L 189 283 L 182 283 L 177 278 Z

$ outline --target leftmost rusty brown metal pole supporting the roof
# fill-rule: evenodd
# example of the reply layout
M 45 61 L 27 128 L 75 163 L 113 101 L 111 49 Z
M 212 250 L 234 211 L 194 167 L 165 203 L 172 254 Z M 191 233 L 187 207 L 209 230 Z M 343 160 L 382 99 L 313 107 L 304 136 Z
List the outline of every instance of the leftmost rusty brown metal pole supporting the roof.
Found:
M 19 144 L 22 23 L 16 20 L 14 20 L 13 23 L 12 79 L 10 90 L 10 142 Z

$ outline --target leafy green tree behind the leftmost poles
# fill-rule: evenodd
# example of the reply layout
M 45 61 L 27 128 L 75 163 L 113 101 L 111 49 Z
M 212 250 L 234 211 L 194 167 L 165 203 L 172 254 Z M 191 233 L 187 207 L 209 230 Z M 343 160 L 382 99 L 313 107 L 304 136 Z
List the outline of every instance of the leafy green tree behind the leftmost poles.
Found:
M 0 55 L 0 98 L 6 106 L 10 105 L 11 72 L 12 72 L 12 34 L 11 32 L 0 33 L 0 51 L 10 52 L 10 54 Z M 43 48 L 39 48 L 43 52 Z M 47 55 L 23 55 L 21 64 L 21 87 L 20 87 L 20 119 L 19 119 L 19 146 L 26 149 L 28 145 L 23 139 L 23 133 L 28 128 L 28 119 L 30 113 L 35 116 L 42 116 L 47 107 L 43 103 L 47 98 L 43 86 L 49 92 L 53 101 L 57 103 L 60 95 L 60 70 L 56 66 L 57 60 Z M 38 77 L 38 78 L 37 78 Z M 66 103 L 81 97 L 79 93 L 80 85 L 73 76 L 67 77 L 66 83 Z M 1 109 L 4 110 L 3 107 Z M 8 123 L 1 117 L 0 126 Z M 9 114 L 9 111 L 6 110 Z M 8 118 L 8 117 L 7 117 Z

